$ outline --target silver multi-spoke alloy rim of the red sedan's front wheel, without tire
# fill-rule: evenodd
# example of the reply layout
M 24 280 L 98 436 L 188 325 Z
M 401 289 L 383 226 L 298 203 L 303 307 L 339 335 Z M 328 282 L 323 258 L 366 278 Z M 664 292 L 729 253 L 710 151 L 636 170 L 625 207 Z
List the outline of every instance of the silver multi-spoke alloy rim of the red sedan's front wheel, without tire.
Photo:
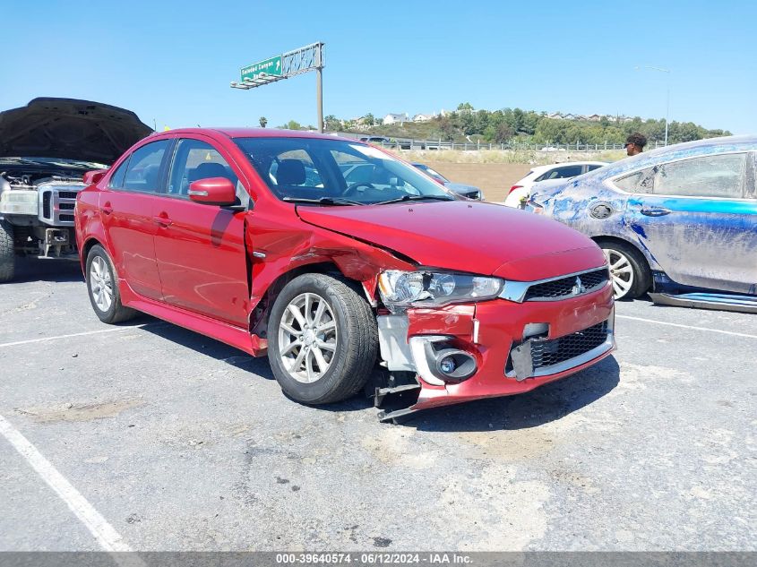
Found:
M 326 374 L 336 355 L 337 322 L 326 300 L 314 293 L 292 299 L 279 325 L 281 364 L 297 382 Z

